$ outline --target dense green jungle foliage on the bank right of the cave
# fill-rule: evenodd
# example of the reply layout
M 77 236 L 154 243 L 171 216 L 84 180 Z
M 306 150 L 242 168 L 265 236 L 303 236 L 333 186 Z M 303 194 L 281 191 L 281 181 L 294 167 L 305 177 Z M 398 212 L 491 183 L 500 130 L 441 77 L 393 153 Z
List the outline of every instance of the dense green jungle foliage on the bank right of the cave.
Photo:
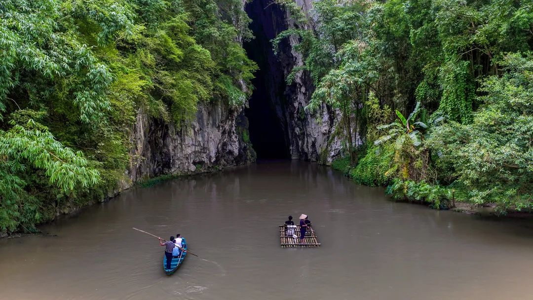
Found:
M 295 49 L 316 90 L 308 109 L 341 112 L 355 181 L 394 199 L 533 208 L 533 2 L 318 0 Z M 361 143 L 356 143 L 358 137 Z

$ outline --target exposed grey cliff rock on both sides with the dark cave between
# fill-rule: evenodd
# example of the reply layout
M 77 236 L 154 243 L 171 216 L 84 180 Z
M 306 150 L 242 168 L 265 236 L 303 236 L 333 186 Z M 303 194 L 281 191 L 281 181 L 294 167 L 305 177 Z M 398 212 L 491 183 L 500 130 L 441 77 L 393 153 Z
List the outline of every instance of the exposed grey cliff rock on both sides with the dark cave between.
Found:
M 310 5 L 310 3 L 304 3 Z M 244 42 L 259 69 L 246 108 L 223 102 L 199 104 L 196 120 L 176 129 L 150 118 L 140 109 L 132 130 L 131 163 L 118 189 L 161 175 L 184 175 L 252 163 L 256 158 L 292 158 L 330 164 L 340 141 L 330 139 L 335 112 L 324 108 L 317 117 L 305 109 L 313 91 L 311 79 L 300 72 L 286 77 L 302 56 L 293 51 L 296 40 L 284 39 L 274 54 L 271 40 L 297 26 L 290 13 L 276 3 L 256 0 L 245 5 L 254 38 Z M 334 141 L 334 142 L 332 142 Z

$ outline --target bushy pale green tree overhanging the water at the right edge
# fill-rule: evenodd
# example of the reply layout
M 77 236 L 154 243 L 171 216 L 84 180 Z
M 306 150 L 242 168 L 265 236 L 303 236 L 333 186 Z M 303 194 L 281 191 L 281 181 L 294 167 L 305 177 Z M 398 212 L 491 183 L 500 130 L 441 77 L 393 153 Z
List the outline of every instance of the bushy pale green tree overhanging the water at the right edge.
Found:
M 533 54 L 507 54 L 498 64 L 505 73 L 483 80 L 472 123 L 435 127 L 429 145 L 440 153 L 439 173 L 451 173 L 471 201 L 531 209 Z

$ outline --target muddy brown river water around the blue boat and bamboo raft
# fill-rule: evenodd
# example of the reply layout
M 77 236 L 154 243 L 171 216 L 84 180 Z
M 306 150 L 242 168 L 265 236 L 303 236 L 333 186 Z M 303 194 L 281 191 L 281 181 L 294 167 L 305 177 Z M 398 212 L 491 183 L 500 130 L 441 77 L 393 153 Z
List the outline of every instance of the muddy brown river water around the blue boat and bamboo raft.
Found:
M 309 215 L 320 248 L 280 248 Z M 182 233 L 168 277 L 155 238 Z M 135 188 L 0 240 L 2 299 L 533 299 L 531 220 L 394 203 L 330 168 L 270 161 Z

